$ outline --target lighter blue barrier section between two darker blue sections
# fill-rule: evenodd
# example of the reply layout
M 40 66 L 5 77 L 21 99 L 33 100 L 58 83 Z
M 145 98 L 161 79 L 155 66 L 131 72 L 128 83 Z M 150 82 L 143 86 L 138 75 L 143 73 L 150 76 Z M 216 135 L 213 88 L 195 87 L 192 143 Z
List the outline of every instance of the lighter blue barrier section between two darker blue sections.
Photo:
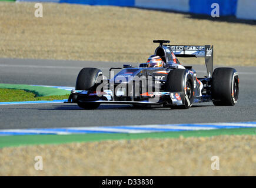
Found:
M 135 6 L 189 12 L 189 0 L 135 0 Z

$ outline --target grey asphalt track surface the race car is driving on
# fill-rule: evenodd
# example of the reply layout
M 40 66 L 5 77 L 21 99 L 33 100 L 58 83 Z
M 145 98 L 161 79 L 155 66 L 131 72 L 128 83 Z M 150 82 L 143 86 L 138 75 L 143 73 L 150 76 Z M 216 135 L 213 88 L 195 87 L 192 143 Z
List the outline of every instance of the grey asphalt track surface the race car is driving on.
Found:
M 109 68 L 122 67 L 122 64 L 0 59 L 0 83 L 75 86 L 78 72 L 84 67 L 99 68 L 108 75 Z M 214 106 L 208 102 L 195 104 L 188 110 L 132 108 L 129 105 L 101 105 L 96 110 L 84 110 L 75 104 L 64 103 L 1 105 L 0 129 L 255 121 L 256 67 L 233 67 L 240 76 L 240 94 L 235 106 Z M 193 65 L 193 68 L 198 77 L 205 75 L 204 65 Z

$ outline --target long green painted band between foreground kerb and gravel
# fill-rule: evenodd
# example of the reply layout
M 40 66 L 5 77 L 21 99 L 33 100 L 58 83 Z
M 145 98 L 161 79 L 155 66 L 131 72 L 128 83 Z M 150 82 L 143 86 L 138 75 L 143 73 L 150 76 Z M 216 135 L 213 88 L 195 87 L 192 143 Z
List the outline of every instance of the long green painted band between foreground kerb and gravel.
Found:
M 256 135 L 256 128 L 242 129 L 216 129 L 216 130 L 192 130 L 181 132 L 158 132 L 158 133 L 88 133 L 79 135 L 20 135 L 0 136 L 0 147 L 22 146 L 22 145 L 46 145 L 62 144 L 71 142 L 97 142 L 101 140 L 121 139 L 145 139 L 145 138 L 168 138 L 168 137 L 199 137 L 218 135 Z

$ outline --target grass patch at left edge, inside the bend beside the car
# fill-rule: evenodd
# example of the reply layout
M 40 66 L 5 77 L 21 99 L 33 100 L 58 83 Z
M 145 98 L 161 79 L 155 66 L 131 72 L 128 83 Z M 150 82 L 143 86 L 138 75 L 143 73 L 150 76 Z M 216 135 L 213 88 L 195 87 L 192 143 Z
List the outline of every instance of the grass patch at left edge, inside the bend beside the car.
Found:
M 39 96 L 35 93 L 19 89 L 0 89 L 0 102 L 34 101 L 34 100 L 61 100 L 68 99 L 69 95 Z

